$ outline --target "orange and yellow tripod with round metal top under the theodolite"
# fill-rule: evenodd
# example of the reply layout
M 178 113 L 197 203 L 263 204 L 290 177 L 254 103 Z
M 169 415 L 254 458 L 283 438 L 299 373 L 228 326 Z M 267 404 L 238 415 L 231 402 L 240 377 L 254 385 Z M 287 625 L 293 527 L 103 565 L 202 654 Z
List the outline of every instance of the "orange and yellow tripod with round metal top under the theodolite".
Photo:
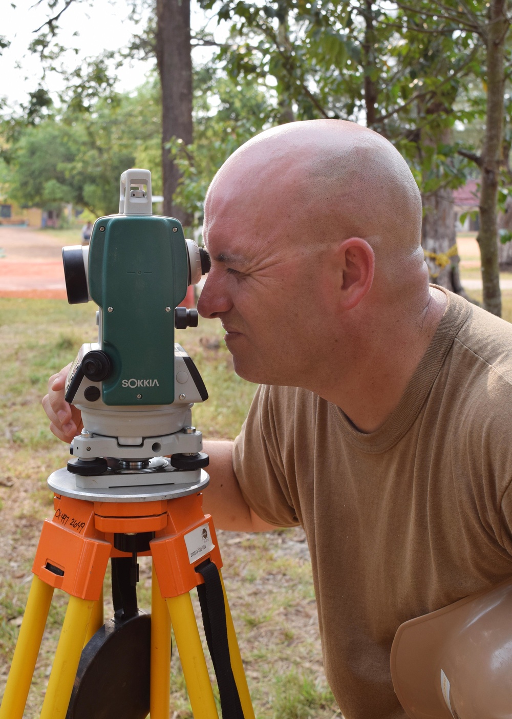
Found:
M 208 475 L 201 470 L 201 479 L 195 485 L 145 485 L 119 487 L 114 491 L 108 488 L 80 490 L 74 484 L 74 475 L 67 470 L 54 472 L 48 482 L 55 493 L 55 514 L 51 521 L 45 521 L 37 546 L 32 567 L 35 576 L 0 707 L 0 719 L 22 719 L 55 587 L 68 593 L 70 599 L 41 719 L 113 716 L 94 709 L 98 702 L 101 705 L 106 699 L 101 696 L 99 683 L 112 665 L 115 669 L 116 663 L 123 663 L 129 649 L 133 654 L 131 645 L 137 640 L 147 641 L 149 645 L 149 687 L 143 686 L 144 681 L 141 684 L 122 677 L 122 692 L 127 692 L 131 683 L 141 687 L 136 688 L 134 698 L 129 699 L 128 714 L 119 710 L 122 697 L 113 697 L 115 716 L 145 717 L 149 704 L 151 719 L 168 719 L 171 623 L 194 719 L 217 719 L 188 593 L 193 587 L 198 587 L 203 600 L 208 594 L 213 596 L 217 587 L 217 597 L 221 597 L 224 609 L 224 613 L 222 608 L 220 612 L 220 634 L 225 636 L 225 651 L 212 651 L 219 627 L 211 613 L 211 620 L 205 618 L 201 602 L 223 717 L 254 719 L 224 583 L 217 572 L 222 562 L 214 526 L 211 516 L 205 516 L 201 508 L 201 490 L 209 482 Z M 138 578 L 137 555 L 152 557 L 150 621 L 137 610 L 134 588 Z M 116 618 L 104 625 L 102 592 L 109 559 Z M 124 640 L 114 641 L 114 637 L 122 635 L 126 636 Z M 221 638 L 220 643 L 222 641 Z M 103 651 L 109 643 L 113 650 Z M 135 648 L 135 664 L 144 663 L 143 654 L 143 647 Z M 134 676 L 137 667 L 135 669 Z M 104 693 L 111 695 L 109 679 L 106 684 Z M 149 702 L 146 693 L 149 693 Z

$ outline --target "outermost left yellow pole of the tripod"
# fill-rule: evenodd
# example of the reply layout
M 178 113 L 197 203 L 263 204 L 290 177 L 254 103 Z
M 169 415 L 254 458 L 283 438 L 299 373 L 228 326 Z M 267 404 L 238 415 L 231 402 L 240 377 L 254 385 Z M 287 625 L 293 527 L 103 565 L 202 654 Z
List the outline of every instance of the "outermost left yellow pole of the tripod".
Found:
M 22 719 L 52 596 L 53 587 L 35 575 L 1 702 L 0 719 Z

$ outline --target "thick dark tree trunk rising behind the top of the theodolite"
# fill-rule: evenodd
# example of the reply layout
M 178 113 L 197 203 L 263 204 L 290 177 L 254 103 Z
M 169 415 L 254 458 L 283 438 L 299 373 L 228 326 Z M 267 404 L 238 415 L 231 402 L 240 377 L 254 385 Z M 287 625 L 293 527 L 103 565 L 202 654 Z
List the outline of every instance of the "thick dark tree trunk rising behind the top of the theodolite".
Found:
M 192 142 L 192 60 L 190 0 L 157 0 L 157 68 L 162 88 L 163 214 L 191 224 L 191 215 L 173 201 L 180 171 L 165 144 L 173 137 Z

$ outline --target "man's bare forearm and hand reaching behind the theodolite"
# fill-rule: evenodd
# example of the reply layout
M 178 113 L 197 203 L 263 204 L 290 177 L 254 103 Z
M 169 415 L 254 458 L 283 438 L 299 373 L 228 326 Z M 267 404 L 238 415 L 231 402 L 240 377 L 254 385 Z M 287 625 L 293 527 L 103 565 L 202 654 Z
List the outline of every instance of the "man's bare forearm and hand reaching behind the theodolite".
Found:
M 80 410 L 64 399 L 69 367 L 64 367 L 57 375 L 50 377 L 48 394 L 42 400 L 42 406 L 50 418 L 51 431 L 68 444 L 74 436 L 80 434 L 83 427 Z M 275 529 L 273 524 L 260 519 L 242 496 L 233 471 L 233 442 L 208 441 L 204 443 L 204 451 L 210 457 L 206 470 L 210 475 L 210 484 L 203 493 L 204 511 L 214 518 L 215 526 L 240 532 Z

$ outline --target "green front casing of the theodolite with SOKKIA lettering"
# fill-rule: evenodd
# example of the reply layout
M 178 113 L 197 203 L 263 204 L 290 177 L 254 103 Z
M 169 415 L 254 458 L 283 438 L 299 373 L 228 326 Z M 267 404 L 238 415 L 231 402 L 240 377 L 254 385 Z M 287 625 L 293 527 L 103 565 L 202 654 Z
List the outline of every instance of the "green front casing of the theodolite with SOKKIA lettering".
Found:
M 153 215 L 96 220 L 88 282 L 101 308 L 101 349 L 112 364 L 103 382 L 104 403 L 173 403 L 174 310 L 188 285 L 179 221 Z

